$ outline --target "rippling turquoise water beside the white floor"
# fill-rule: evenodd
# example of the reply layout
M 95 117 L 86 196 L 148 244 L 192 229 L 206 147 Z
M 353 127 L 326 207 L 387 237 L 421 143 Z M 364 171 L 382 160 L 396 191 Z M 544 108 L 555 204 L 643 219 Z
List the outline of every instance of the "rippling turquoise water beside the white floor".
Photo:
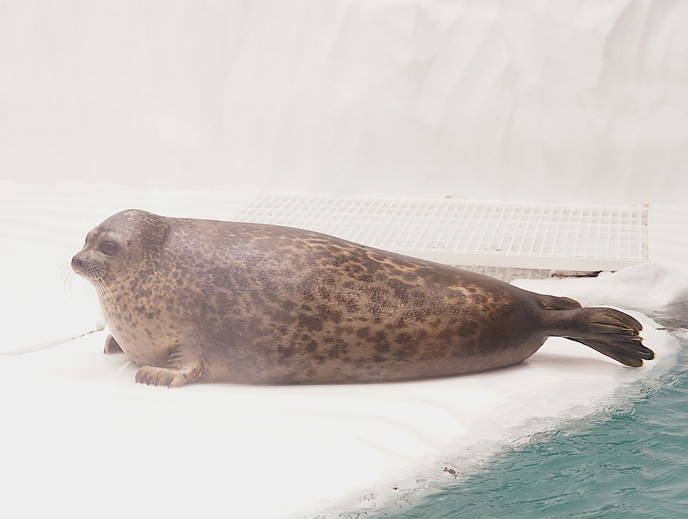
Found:
M 505 454 L 393 519 L 688 518 L 688 305 L 646 312 L 681 343 L 655 390 Z

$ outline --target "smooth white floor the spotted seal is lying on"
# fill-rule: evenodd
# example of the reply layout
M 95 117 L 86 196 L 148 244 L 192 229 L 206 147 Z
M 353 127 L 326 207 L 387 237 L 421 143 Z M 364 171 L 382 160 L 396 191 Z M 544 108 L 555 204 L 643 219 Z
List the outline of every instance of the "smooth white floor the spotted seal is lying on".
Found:
M 124 354 L 103 355 L 105 332 L 67 341 L 98 327 L 87 287 L 67 275 L 69 258 L 121 209 L 228 219 L 255 193 L 0 189 L 3 516 L 324 518 L 405 506 L 453 482 L 444 467 L 468 474 L 538 432 L 632 401 L 674 361 L 674 339 L 632 312 L 658 354 L 641 369 L 550 339 L 515 368 L 438 381 L 138 385 Z M 686 212 L 650 209 L 652 263 L 517 284 L 620 308 L 685 298 L 688 254 L 675 237 Z

